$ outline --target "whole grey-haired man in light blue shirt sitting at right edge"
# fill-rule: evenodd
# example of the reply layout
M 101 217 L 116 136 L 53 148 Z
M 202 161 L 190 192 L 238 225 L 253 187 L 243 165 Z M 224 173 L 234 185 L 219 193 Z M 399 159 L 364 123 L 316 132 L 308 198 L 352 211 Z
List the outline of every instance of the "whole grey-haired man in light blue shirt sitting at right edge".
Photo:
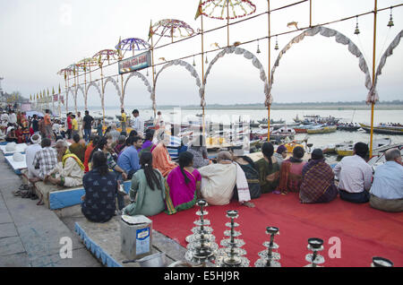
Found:
M 403 161 L 398 149 L 385 152 L 386 162 L 376 168 L 370 205 L 385 212 L 403 212 Z

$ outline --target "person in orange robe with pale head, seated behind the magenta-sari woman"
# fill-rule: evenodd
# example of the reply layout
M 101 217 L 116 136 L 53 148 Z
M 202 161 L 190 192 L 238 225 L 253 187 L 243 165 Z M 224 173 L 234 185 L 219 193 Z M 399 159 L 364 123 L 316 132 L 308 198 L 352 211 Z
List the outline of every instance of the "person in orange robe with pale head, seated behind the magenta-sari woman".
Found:
M 169 135 L 160 134 L 161 141 L 152 151 L 152 167 L 159 169 L 163 177 L 167 177 L 169 172 L 176 168 L 177 164 L 171 160 L 167 145 L 169 144 Z

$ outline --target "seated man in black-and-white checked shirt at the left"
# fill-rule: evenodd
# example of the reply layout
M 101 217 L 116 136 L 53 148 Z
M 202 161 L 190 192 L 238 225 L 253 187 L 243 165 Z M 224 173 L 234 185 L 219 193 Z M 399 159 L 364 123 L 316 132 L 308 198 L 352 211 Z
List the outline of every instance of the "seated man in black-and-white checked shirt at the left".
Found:
M 40 142 L 42 149 L 37 151 L 34 160 L 32 161 L 32 165 L 36 169 L 39 169 L 39 174 L 38 176 L 30 178 L 31 183 L 44 180 L 45 177 L 55 169 L 57 164 L 57 151 L 50 147 L 51 143 L 52 142 L 48 138 L 44 138 L 42 142 Z

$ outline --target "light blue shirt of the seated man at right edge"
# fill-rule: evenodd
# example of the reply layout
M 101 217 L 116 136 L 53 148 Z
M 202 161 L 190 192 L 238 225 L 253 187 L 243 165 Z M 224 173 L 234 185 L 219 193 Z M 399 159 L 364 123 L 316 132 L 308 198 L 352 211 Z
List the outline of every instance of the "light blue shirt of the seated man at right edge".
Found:
M 381 199 L 402 199 L 403 166 L 396 161 L 386 161 L 377 167 L 370 192 Z

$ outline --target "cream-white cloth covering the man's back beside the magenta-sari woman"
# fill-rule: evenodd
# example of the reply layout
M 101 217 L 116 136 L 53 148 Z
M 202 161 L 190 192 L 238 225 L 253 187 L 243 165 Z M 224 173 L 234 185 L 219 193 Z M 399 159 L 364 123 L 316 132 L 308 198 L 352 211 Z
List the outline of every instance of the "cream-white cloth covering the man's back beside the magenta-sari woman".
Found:
M 210 205 L 225 205 L 231 201 L 236 186 L 236 165 L 210 164 L 198 169 L 201 174 L 201 196 Z

